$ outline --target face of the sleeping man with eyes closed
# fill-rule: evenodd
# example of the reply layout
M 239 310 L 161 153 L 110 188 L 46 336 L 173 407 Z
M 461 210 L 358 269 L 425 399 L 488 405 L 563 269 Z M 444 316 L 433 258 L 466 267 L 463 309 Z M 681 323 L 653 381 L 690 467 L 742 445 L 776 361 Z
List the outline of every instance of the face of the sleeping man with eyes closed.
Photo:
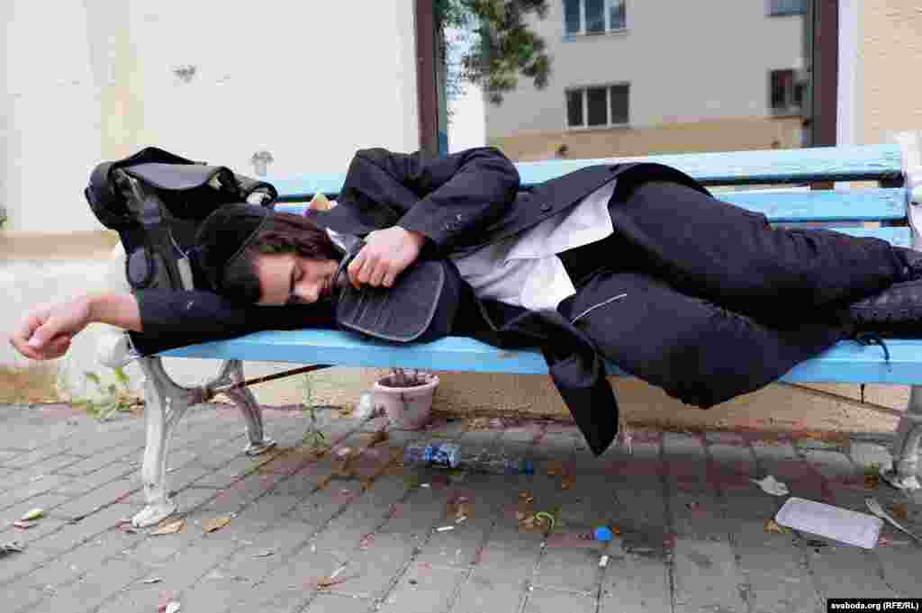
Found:
M 279 305 L 310 304 L 331 295 L 338 263 L 336 260 L 312 260 L 296 253 L 261 253 L 255 265 L 262 290 L 259 304 Z

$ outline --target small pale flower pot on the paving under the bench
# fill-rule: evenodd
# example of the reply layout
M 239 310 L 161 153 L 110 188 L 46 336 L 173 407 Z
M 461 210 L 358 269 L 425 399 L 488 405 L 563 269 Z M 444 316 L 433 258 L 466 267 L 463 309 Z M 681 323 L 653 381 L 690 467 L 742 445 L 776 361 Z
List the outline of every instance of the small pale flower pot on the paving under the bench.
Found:
M 428 372 L 401 376 L 389 372 L 378 377 L 372 388 L 375 408 L 384 408 L 391 425 L 400 430 L 420 430 L 429 421 L 432 397 L 439 377 Z

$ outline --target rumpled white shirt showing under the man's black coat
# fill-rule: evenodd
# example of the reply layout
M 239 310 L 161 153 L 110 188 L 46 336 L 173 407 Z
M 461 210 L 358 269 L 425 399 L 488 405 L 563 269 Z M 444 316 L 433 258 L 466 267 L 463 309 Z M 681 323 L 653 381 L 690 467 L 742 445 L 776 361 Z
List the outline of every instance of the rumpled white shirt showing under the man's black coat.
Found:
M 558 253 L 600 241 L 614 232 L 609 200 L 614 181 L 587 195 L 578 205 L 502 241 L 463 254 L 449 253 L 458 272 L 479 298 L 489 298 L 531 311 L 556 310 L 576 288 Z M 348 235 L 326 230 L 346 248 Z

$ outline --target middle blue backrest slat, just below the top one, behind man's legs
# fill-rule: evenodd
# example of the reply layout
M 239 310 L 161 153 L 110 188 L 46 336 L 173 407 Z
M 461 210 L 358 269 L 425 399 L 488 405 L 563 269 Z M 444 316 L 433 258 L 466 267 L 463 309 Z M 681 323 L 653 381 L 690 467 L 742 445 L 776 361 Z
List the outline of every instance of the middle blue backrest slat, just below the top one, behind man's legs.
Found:
M 903 188 L 719 192 L 715 196 L 764 213 L 771 221 L 880 221 L 906 217 Z

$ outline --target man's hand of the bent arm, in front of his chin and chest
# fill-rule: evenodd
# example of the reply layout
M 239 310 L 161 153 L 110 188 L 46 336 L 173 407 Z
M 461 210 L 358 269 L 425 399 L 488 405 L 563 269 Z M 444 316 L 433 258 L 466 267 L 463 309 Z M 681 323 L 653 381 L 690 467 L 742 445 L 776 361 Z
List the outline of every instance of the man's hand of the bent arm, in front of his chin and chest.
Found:
M 363 283 L 389 288 L 400 273 L 420 256 L 426 237 L 420 232 L 392 226 L 374 230 L 365 237 L 365 246 L 349 263 L 349 282 L 359 289 Z

